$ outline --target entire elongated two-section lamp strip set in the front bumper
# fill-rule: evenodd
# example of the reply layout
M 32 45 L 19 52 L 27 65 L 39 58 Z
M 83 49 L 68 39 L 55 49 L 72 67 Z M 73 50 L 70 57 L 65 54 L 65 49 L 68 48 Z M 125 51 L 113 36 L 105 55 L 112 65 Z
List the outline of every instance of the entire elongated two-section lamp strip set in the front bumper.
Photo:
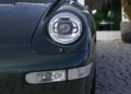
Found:
M 93 69 L 93 63 L 86 64 L 84 67 L 58 70 L 58 71 L 44 71 L 44 72 L 31 72 L 25 75 L 25 80 L 29 84 L 41 84 L 50 82 L 61 82 L 86 78 L 91 74 Z

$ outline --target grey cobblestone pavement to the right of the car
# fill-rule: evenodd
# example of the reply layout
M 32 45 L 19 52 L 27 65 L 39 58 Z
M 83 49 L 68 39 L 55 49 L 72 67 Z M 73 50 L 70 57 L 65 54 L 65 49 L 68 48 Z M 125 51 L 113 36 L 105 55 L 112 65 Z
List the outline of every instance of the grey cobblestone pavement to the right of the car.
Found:
M 96 94 L 131 94 L 131 44 L 98 43 Z

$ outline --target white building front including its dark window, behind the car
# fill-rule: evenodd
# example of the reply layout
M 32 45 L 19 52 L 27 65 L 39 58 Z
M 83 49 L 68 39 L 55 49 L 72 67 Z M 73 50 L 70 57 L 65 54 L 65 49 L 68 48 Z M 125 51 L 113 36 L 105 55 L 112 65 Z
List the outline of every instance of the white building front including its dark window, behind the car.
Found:
M 98 40 L 121 39 L 121 22 L 124 22 L 121 0 L 78 0 L 94 15 Z

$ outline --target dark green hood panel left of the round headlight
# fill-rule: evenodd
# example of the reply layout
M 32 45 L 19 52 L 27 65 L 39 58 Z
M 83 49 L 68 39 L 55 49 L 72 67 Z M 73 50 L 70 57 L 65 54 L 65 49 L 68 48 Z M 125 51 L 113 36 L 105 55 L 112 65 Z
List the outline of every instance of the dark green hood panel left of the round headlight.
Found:
M 0 4 L 0 44 L 28 44 L 50 3 Z

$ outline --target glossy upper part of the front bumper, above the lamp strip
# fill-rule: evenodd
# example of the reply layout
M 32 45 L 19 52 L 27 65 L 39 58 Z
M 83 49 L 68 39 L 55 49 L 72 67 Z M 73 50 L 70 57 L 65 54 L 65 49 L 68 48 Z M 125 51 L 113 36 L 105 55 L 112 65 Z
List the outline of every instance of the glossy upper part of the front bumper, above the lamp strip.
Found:
M 29 45 L 0 45 L 0 71 L 40 71 L 68 69 L 87 63 L 87 51 L 75 54 L 35 54 Z

